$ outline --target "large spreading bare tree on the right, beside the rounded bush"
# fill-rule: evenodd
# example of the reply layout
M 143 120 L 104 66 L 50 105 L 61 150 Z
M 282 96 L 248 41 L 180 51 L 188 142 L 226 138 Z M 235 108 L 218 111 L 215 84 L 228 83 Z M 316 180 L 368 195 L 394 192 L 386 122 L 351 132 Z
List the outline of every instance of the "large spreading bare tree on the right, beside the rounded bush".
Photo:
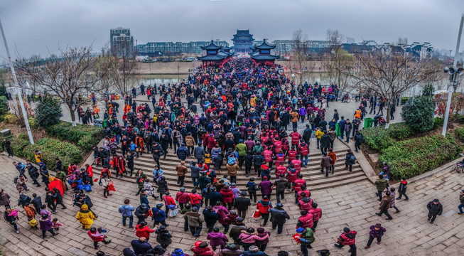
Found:
M 392 47 L 392 49 L 394 49 Z M 384 98 L 387 107 L 387 125 L 390 121 L 390 102 L 402 92 L 410 90 L 420 82 L 427 82 L 441 71 L 429 61 L 414 62 L 411 55 L 404 52 L 385 53 L 369 50 L 360 56 L 360 72 L 351 73 L 357 84 Z

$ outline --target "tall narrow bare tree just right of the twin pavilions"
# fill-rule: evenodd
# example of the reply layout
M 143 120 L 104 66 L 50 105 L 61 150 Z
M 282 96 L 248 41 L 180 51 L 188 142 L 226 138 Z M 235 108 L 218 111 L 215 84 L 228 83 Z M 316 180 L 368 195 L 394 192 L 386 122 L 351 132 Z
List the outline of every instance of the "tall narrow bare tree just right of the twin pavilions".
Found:
M 300 83 L 303 83 L 303 73 L 308 66 L 308 36 L 300 29 L 293 31 L 292 45 L 293 45 L 293 63 L 296 72 L 300 75 Z

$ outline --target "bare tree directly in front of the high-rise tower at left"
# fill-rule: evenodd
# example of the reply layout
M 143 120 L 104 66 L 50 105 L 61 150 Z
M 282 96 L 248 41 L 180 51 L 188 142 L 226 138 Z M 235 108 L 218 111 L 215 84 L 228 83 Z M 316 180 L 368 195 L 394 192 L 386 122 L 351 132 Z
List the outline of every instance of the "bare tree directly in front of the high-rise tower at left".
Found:
M 139 82 L 139 79 L 136 78 L 136 73 L 139 70 L 135 61 L 137 52 L 129 42 L 123 41 L 118 47 L 113 47 L 110 54 L 115 67 L 112 69 L 115 73 L 111 74 L 111 78 L 114 80 L 114 89 L 119 94 L 125 95 L 129 93 L 132 86 Z

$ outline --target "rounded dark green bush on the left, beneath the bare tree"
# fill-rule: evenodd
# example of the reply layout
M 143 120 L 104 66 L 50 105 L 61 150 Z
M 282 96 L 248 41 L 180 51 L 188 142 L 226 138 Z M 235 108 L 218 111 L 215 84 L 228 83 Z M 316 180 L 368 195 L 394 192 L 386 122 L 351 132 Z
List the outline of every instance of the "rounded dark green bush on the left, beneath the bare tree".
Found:
M 58 124 L 61 117 L 60 101 L 52 97 L 44 97 L 36 107 L 36 123 L 39 127 Z

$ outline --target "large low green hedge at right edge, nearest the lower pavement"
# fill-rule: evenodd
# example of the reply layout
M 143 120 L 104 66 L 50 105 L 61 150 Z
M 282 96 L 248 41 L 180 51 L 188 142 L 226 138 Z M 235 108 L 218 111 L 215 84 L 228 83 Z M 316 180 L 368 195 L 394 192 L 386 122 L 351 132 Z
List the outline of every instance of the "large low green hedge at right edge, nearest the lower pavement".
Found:
M 387 161 L 392 177 L 411 178 L 455 159 L 463 149 L 451 134 L 447 137 L 433 135 L 397 142 L 385 149 L 379 163 Z

